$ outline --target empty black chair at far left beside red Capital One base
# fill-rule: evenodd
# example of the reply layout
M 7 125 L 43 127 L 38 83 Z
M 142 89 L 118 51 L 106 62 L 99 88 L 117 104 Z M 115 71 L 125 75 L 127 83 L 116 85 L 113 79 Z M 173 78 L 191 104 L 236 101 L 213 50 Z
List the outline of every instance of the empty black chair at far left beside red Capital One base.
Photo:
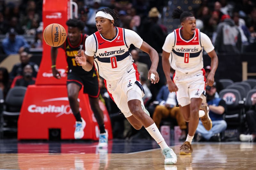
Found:
M 26 87 L 16 86 L 8 91 L 4 102 L 5 109 L 0 119 L 0 137 L 3 137 L 4 131 L 17 131 L 17 122 L 26 90 Z

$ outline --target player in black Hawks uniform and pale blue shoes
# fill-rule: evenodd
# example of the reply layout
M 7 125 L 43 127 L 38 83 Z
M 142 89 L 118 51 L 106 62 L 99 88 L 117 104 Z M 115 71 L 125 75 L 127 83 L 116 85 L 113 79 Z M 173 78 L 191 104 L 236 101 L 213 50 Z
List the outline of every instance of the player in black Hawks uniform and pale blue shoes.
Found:
M 82 34 L 82 30 L 84 29 L 82 21 L 78 19 L 69 19 L 66 24 L 68 26 L 68 37 L 65 43 L 59 47 L 52 47 L 51 49 L 52 74 L 57 79 L 61 78 L 59 71 L 56 69 L 56 58 L 58 48 L 62 48 L 65 50 L 68 63 L 68 101 L 73 115 L 76 118 L 74 138 L 81 139 L 84 137 L 84 128 L 86 124 L 84 119 L 81 117 L 79 102 L 77 101 L 79 91 L 84 85 L 84 93 L 87 93 L 89 96 L 92 111 L 100 128 L 98 147 L 106 148 L 108 147 L 108 132 L 104 127 L 103 112 L 99 105 L 100 89 L 98 73 L 95 67 L 88 72 L 84 71 L 84 69 L 76 64 L 75 61 L 75 54 L 85 50 L 84 42 L 88 35 Z

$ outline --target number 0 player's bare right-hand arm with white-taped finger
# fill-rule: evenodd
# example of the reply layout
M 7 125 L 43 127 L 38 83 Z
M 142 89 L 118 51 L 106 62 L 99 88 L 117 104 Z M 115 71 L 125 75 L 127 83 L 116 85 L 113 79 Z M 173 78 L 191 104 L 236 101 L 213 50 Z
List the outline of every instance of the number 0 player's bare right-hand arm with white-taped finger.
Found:
M 148 53 L 150 60 L 152 62 L 151 67 L 148 71 L 148 79 L 150 79 L 151 74 L 155 74 L 155 80 L 151 79 L 151 83 L 158 83 L 159 81 L 159 75 L 156 71 L 157 66 L 158 66 L 158 61 L 159 61 L 159 56 L 158 53 L 156 52 L 156 50 L 154 48 L 152 48 L 151 46 L 148 45 L 148 43 L 146 43 L 145 41 L 142 42 L 142 45 L 140 46 L 140 49 L 146 53 Z

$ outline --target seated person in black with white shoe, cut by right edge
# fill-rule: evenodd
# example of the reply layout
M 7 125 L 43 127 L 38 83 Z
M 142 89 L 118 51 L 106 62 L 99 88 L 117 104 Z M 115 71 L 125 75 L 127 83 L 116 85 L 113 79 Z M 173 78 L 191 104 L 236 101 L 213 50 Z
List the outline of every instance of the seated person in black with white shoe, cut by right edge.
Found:
M 253 142 L 256 139 L 256 97 L 253 97 L 252 106 L 245 113 L 245 115 L 246 115 L 246 122 L 248 124 L 250 134 L 247 134 L 247 135 L 241 134 L 239 136 L 239 139 L 241 141 Z

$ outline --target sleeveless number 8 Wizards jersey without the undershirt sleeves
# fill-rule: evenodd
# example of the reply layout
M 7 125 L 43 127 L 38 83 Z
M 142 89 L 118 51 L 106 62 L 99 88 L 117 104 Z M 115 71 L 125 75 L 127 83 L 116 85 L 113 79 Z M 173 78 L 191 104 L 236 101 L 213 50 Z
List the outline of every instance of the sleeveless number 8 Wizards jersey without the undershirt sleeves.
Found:
M 192 39 L 186 41 L 180 35 L 182 28 L 174 30 L 175 42 L 172 47 L 170 62 L 174 70 L 187 74 L 204 67 L 203 48 L 200 42 L 199 29 L 195 30 Z

